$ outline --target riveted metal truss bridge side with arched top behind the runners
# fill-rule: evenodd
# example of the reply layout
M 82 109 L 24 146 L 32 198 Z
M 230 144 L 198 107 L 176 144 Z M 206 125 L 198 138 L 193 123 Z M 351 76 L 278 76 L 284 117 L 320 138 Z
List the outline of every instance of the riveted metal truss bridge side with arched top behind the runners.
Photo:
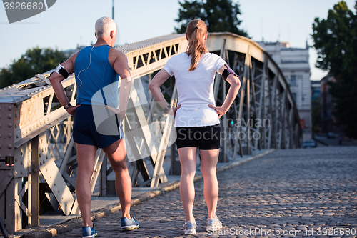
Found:
M 156 187 L 167 181 L 163 163 L 174 118 L 163 116 L 143 84 L 149 83 L 151 74 L 162 69 L 171 56 L 185 51 L 186 46 L 184 34 L 178 34 L 117 48 L 126 54 L 134 76 L 124 119 L 128 159 L 134 161 L 133 186 Z M 241 77 L 241 90 L 222 118 L 220 161 L 228 162 L 228 158 L 236 159 L 237 154 L 243 156 L 261 149 L 301 147 L 296 105 L 281 70 L 266 51 L 250 39 L 230 33 L 210 34 L 208 49 L 221 55 Z M 54 95 L 50 73 L 37 74 L 0 90 L 0 217 L 11 234 L 38 226 L 46 201 L 66 215 L 79 214 L 72 121 Z M 74 76 L 62 84 L 69 101 L 75 104 Z M 217 74 L 217 105 L 223 103 L 228 88 Z M 176 106 L 174 77 L 161 90 L 171 100 L 171 106 Z M 171 171 L 178 163 L 175 150 L 171 146 Z M 92 191 L 99 178 L 100 194 L 106 196 L 111 172 L 99 149 Z

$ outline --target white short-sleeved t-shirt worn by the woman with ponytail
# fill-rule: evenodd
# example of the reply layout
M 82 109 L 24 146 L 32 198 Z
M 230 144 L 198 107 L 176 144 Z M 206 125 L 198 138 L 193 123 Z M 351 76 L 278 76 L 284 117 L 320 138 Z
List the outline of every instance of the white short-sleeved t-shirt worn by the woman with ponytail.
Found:
M 175 127 L 204 127 L 219 123 L 216 110 L 208 105 L 216 106 L 213 95 L 213 84 L 216 71 L 226 64 L 220 56 L 212 53 L 202 55 L 193 71 L 191 56 L 185 52 L 173 56 L 167 61 L 164 70 L 175 75 L 178 92 Z

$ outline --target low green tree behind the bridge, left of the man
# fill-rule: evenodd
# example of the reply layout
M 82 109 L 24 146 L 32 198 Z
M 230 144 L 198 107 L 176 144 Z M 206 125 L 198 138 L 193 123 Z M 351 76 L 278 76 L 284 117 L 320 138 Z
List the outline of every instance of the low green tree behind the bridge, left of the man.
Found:
M 8 68 L 1 69 L 0 89 L 54 69 L 61 60 L 66 60 L 66 56 L 61 51 L 50 48 L 39 49 L 39 47 L 28 49 Z

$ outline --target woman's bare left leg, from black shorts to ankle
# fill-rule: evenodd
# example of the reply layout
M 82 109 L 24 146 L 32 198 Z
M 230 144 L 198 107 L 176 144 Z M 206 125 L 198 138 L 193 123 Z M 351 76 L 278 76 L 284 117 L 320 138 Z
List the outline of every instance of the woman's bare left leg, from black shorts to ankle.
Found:
M 193 179 L 196 173 L 197 147 L 183 147 L 178 149 L 178 157 L 181 163 L 180 194 L 186 222 L 193 222 L 193 202 L 195 199 L 195 187 Z

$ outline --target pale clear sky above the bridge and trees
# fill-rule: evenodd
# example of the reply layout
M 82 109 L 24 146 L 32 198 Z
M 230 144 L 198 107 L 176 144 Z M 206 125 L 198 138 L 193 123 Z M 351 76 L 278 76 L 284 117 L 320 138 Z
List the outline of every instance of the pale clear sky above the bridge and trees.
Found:
M 356 0 L 345 0 L 353 9 Z M 233 2 L 237 2 L 233 0 Z M 253 41 L 289 41 L 291 47 L 313 45 L 312 24 L 326 19 L 328 9 L 338 0 L 239 0 L 243 22 L 240 26 Z M 4 5 L 0 6 L 0 68 L 9 66 L 27 49 L 67 50 L 96 41 L 94 23 L 111 16 L 113 0 L 57 0 L 44 12 L 9 24 Z M 118 28 L 116 45 L 130 44 L 174 33 L 178 26 L 178 0 L 114 0 L 114 20 Z M 311 79 L 326 72 L 316 69 L 316 50 L 310 49 Z M 39 72 L 41 73 L 41 72 Z

